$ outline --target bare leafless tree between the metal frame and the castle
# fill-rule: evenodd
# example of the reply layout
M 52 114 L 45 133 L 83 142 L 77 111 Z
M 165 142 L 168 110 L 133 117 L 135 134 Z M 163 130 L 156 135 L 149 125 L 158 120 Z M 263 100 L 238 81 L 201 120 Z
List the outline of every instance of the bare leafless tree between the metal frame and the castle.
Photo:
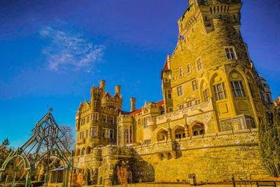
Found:
M 73 151 L 73 149 L 75 148 L 75 139 L 71 126 L 59 125 L 59 129 L 61 130 L 59 134 L 59 139 L 61 139 L 62 144 L 64 145 L 61 146 L 62 151 L 66 152 L 66 149 L 70 152 Z

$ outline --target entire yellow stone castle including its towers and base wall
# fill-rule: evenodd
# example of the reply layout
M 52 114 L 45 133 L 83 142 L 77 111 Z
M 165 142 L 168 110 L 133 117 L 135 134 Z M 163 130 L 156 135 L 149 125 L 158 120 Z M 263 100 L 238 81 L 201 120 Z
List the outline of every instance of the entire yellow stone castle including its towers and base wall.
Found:
M 272 109 L 271 92 L 248 55 L 240 0 L 190 0 L 179 39 L 161 71 L 160 102 L 122 111 L 120 85 L 91 89 L 76 114 L 74 165 L 94 183 L 116 177 L 126 161 L 134 181 L 261 179 L 258 125 Z

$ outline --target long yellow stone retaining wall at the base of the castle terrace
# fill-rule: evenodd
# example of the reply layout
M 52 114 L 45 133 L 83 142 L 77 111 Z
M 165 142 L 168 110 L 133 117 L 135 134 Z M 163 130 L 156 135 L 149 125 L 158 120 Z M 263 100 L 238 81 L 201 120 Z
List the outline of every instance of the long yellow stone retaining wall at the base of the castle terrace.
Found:
M 188 181 L 188 174 L 195 174 L 198 182 L 229 181 L 232 174 L 236 179 L 267 176 L 258 160 L 256 129 L 158 141 L 130 148 L 106 146 L 102 148 L 100 159 L 100 165 L 96 165 L 99 179 L 116 177 L 116 166 L 123 161 L 129 163 L 134 181 Z M 91 162 L 85 159 L 85 166 L 94 167 Z

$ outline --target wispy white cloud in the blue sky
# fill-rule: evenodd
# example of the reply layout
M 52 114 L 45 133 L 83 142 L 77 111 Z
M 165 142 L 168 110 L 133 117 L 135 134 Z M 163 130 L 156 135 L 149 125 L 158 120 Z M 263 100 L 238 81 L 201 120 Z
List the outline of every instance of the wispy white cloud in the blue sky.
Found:
M 52 71 L 71 69 L 90 73 L 103 55 L 104 46 L 93 45 L 82 32 L 63 22 L 44 27 L 39 34 L 44 39 L 50 39 L 43 54 L 47 57 L 48 69 Z

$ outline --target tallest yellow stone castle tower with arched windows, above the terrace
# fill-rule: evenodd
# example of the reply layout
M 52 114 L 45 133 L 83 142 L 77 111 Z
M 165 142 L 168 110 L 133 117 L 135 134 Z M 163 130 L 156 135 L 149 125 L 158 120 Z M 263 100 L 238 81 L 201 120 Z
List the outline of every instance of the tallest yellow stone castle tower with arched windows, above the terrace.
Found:
M 241 1 L 188 3 L 162 69 L 165 113 L 212 102 L 216 131 L 255 127 L 263 118 L 262 88 L 239 31 Z

